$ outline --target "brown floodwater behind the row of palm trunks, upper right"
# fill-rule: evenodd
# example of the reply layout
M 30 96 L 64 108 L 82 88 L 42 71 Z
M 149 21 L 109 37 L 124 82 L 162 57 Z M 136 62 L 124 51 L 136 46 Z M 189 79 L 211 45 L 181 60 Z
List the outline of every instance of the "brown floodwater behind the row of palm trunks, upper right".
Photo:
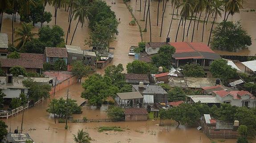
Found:
M 138 20 L 143 19 L 145 0 L 142 0 L 142 1 L 143 2 L 142 2 L 142 11 L 141 12 L 138 12 L 138 10 L 140 8 L 139 0 L 137 1 L 137 4 L 136 4 L 135 0 L 131 0 L 131 2 L 129 3 L 131 5 L 131 7 L 133 8 L 135 17 Z M 173 9 L 171 7 L 171 3 L 167 3 L 167 8 L 166 8 L 166 12 L 164 15 L 164 20 L 163 20 L 163 33 L 162 33 L 162 37 L 159 37 L 161 23 L 162 23 L 161 21 L 162 21 L 162 14 L 163 14 L 163 12 L 162 12 L 163 3 L 161 3 L 159 6 L 159 18 L 158 18 L 159 24 L 158 24 L 158 26 L 157 26 L 157 6 L 158 6 L 158 4 L 157 4 L 156 0 L 150 0 L 150 17 L 151 17 L 150 19 L 151 19 L 151 30 L 152 30 L 152 42 L 165 42 L 167 34 L 168 34 L 170 22 L 171 22 L 171 16 L 172 16 Z M 248 50 L 239 50 L 236 53 L 216 50 L 217 53 L 219 53 L 219 54 L 236 54 L 236 55 L 248 55 L 248 54 L 254 55 L 254 54 L 256 54 L 256 48 L 255 48 L 256 28 L 254 27 L 256 24 L 256 12 L 243 12 L 245 10 L 256 9 L 256 1 L 255 0 L 246 0 L 246 1 L 244 1 L 243 7 L 244 7 L 244 9 L 240 9 L 240 11 L 241 11 L 240 14 L 235 14 L 234 16 L 230 15 L 228 20 L 231 20 L 231 21 L 240 20 L 242 27 L 248 32 L 249 35 L 252 36 L 252 46 L 250 46 L 248 48 Z M 146 6 L 146 8 L 147 8 L 147 6 Z M 181 10 L 181 8 L 179 8 L 179 12 L 180 12 L 180 10 Z M 175 10 L 175 14 L 176 13 L 177 13 L 177 10 Z M 224 13 L 222 15 L 224 16 Z M 199 17 L 199 14 L 197 16 Z M 171 42 L 175 42 L 175 36 L 176 36 L 177 28 L 179 25 L 180 16 L 175 15 L 174 18 L 175 18 L 175 20 L 173 20 L 173 22 L 172 22 L 171 32 L 169 35 L 171 37 Z M 203 18 L 204 18 L 204 14 L 202 13 L 201 20 L 203 20 Z M 145 16 L 145 20 L 146 20 L 146 16 Z M 218 18 L 216 20 L 216 22 L 221 22 L 222 20 L 223 20 L 223 18 Z M 213 17 L 210 17 L 209 21 L 213 21 Z M 142 26 L 142 30 L 143 30 L 145 28 L 146 21 L 139 21 L 139 23 Z M 189 25 L 189 20 L 187 20 L 186 25 L 185 25 L 184 41 L 191 42 L 193 28 L 189 29 L 188 37 L 186 37 L 188 25 Z M 183 26 L 184 26 L 184 23 L 183 23 Z M 177 41 L 182 41 L 183 28 L 184 28 L 183 26 L 180 26 L 180 28 L 179 28 L 179 34 L 178 34 Z M 191 22 L 191 27 L 193 27 L 192 22 Z M 201 42 L 202 41 L 203 23 L 199 22 L 198 31 L 196 30 L 196 27 L 197 27 L 197 22 L 195 25 L 195 33 L 194 33 L 193 42 Z M 208 23 L 205 26 L 203 43 L 206 43 L 206 44 L 208 43 L 210 30 L 211 30 L 211 23 Z M 147 32 L 143 32 L 143 40 L 144 41 L 150 40 L 150 32 L 149 31 L 150 31 L 150 27 L 149 27 L 149 21 L 148 21 Z

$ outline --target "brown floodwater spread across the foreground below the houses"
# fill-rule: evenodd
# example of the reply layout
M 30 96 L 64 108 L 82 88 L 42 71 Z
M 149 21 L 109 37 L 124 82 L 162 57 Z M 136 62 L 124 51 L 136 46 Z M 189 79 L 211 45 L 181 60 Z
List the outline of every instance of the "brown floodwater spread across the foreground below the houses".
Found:
M 81 85 L 74 84 L 69 86 L 69 96 L 81 95 Z M 55 98 L 66 97 L 67 89 L 63 89 L 56 93 Z M 53 98 L 53 97 L 51 97 Z M 24 112 L 23 132 L 28 132 L 36 143 L 73 143 L 73 135 L 78 129 L 84 129 L 94 139 L 94 143 L 210 143 L 202 132 L 196 128 L 185 128 L 174 121 L 164 121 L 165 126 L 159 127 L 158 120 L 155 121 L 139 121 L 139 122 L 100 122 L 100 123 L 68 123 L 69 129 L 65 130 L 65 124 L 54 124 L 53 115 L 46 112 L 49 100 L 44 100 L 36 107 L 30 108 Z M 98 109 L 92 106 L 84 106 L 83 113 L 74 115 L 75 119 L 87 117 L 88 119 L 106 118 L 106 105 Z M 21 124 L 22 114 L 16 117 L 10 117 L 4 121 L 11 126 L 11 130 L 17 128 Z M 125 131 L 114 132 L 98 132 L 96 128 L 99 126 L 120 126 Z M 29 129 L 36 129 L 30 131 Z M 48 130 L 49 128 L 49 130 Z M 9 129 L 8 129 L 9 130 Z M 106 134 L 108 133 L 108 134 Z M 118 142 L 120 141 L 120 142 Z M 218 139 L 216 139 L 218 141 Z M 235 140 L 226 139 L 226 143 L 234 143 Z

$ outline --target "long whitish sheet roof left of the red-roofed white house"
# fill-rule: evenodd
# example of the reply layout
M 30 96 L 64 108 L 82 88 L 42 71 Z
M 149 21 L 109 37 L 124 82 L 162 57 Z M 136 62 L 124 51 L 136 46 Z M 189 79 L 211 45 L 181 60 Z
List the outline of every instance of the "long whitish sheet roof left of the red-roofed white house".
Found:
M 199 101 L 201 103 L 220 103 L 216 97 L 210 95 L 188 95 L 187 97 L 190 97 L 195 103 Z

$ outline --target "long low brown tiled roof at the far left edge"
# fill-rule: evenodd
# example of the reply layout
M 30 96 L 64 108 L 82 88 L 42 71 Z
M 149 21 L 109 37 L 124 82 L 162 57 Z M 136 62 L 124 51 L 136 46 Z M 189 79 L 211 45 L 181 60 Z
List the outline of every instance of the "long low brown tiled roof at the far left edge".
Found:
M 29 59 L 14 59 L 14 58 L 5 58 L 0 59 L 2 67 L 13 67 L 21 66 L 24 68 L 33 68 L 33 69 L 43 69 L 43 60 L 29 60 Z

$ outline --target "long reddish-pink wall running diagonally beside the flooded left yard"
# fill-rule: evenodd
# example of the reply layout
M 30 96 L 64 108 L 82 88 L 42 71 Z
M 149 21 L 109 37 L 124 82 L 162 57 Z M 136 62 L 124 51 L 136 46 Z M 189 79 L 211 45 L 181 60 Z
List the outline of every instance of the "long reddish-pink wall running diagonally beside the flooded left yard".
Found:
M 65 81 L 62 81 L 59 84 L 57 84 L 55 92 L 57 92 L 61 89 L 64 89 L 64 88 L 68 87 L 69 85 L 73 85 L 74 83 L 77 83 L 77 81 L 78 81 L 77 76 L 70 77 L 70 78 L 66 79 Z M 53 93 L 54 93 L 54 85 L 52 87 L 52 90 L 50 91 L 50 94 L 53 94 Z

